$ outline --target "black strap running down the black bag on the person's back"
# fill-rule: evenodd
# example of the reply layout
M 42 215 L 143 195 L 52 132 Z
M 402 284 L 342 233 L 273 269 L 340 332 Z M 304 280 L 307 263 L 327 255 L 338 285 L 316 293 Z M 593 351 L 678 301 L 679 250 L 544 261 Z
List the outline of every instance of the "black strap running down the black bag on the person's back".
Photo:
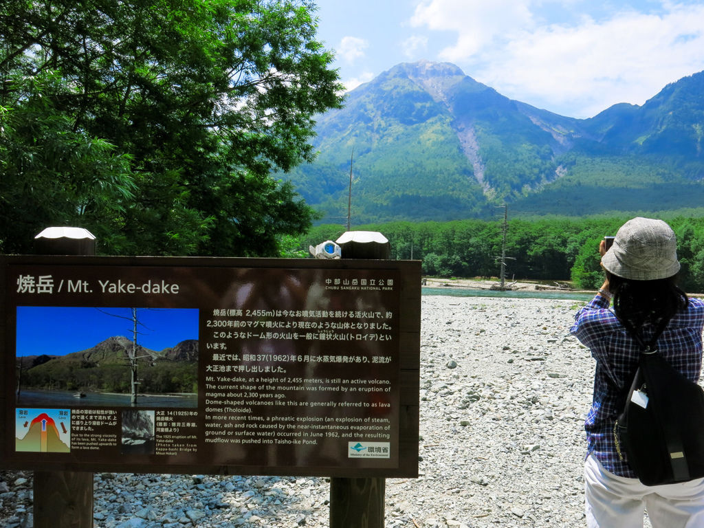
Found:
M 670 318 L 663 318 L 660 321 L 658 327 L 655 329 L 655 334 L 653 334 L 653 337 L 650 339 L 650 341 L 648 341 L 648 343 L 645 343 L 645 341 L 643 341 L 643 337 L 641 337 L 640 333 L 636 331 L 636 329 L 633 327 L 633 325 L 630 324 L 630 322 L 621 320 L 621 323 L 624 328 L 627 329 L 629 334 L 631 334 L 631 337 L 633 337 L 633 339 L 635 339 L 641 347 L 639 367 L 641 372 L 643 373 L 643 377 L 646 379 L 646 385 L 648 385 L 650 379 L 652 379 L 650 374 L 653 372 L 653 365 L 650 360 L 651 358 L 655 357 L 655 354 L 658 354 L 658 348 L 656 348 L 655 345 L 657 344 L 658 339 L 660 339 L 662 332 L 665 332 L 665 328 L 670 323 Z M 658 356 L 660 356 L 660 354 L 658 354 Z M 660 358 L 662 358 L 662 356 L 660 356 Z M 664 361 L 664 358 L 662 358 L 662 360 Z M 637 372 L 634 377 L 636 375 Z M 665 435 L 667 453 L 670 455 L 670 467 L 672 468 L 672 476 L 674 477 L 674 480 L 676 482 L 689 480 L 689 467 L 687 465 L 687 460 L 684 455 L 684 446 L 682 445 L 682 441 L 679 435 L 676 434 L 676 432 L 674 432 L 671 427 L 667 427 L 668 417 L 660 407 L 660 398 L 658 397 L 659 395 L 655 394 L 656 389 L 657 388 L 654 387 L 652 383 L 650 383 L 650 390 L 648 391 L 648 400 L 650 401 L 650 405 L 653 406 L 653 413 L 655 414 L 655 417 L 660 423 L 663 424 L 662 431 Z

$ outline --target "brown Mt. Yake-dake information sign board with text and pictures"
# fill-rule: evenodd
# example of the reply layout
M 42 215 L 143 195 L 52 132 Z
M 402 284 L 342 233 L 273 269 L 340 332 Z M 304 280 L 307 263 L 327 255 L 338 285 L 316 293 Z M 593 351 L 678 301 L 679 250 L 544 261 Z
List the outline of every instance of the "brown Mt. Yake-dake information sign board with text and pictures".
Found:
M 417 261 L 1 256 L 0 347 L 0 467 L 417 476 Z

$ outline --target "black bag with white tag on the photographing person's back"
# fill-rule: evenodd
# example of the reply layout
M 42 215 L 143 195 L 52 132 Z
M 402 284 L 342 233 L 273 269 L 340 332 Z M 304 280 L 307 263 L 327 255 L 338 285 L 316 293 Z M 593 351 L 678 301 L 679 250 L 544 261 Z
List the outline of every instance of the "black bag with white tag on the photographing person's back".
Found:
M 660 356 L 655 342 L 667 326 L 660 325 L 641 346 L 638 370 L 614 425 L 618 454 L 646 486 L 704 477 L 704 391 Z

